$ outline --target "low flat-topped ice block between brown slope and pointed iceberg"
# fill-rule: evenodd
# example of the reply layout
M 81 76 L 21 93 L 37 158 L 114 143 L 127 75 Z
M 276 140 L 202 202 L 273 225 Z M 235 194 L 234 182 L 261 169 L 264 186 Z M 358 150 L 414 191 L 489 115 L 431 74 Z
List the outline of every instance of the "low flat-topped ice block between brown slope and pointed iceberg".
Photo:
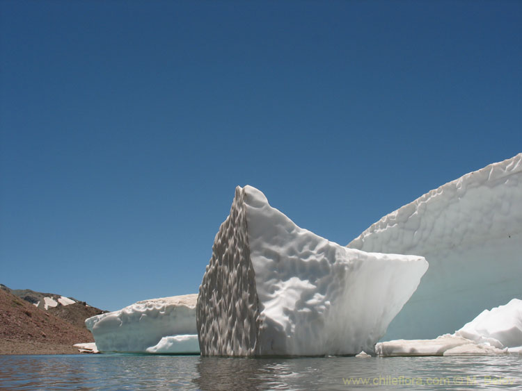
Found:
M 197 294 L 186 294 L 138 301 L 122 310 L 90 317 L 85 324 L 102 352 L 198 353 L 198 344 L 193 342 L 198 338 L 197 297 Z M 184 342 L 187 335 L 191 336 L 191 344 Z M 174 339 L 169 345 L 169 340 L 161 342 L 164 337 Z M 189 348 L 190 351 L 179 351 Z

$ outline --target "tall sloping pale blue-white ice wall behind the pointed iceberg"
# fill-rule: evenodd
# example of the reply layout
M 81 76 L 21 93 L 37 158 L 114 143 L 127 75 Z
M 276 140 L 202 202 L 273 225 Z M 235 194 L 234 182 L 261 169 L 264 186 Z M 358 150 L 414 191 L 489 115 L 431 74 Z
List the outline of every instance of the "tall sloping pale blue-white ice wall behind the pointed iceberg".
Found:
M 386 339 L 434 338 L 482 308 L 522 299 L 522 153 L 382 217 L 349 248 L 424 256 L 422 284 Z

